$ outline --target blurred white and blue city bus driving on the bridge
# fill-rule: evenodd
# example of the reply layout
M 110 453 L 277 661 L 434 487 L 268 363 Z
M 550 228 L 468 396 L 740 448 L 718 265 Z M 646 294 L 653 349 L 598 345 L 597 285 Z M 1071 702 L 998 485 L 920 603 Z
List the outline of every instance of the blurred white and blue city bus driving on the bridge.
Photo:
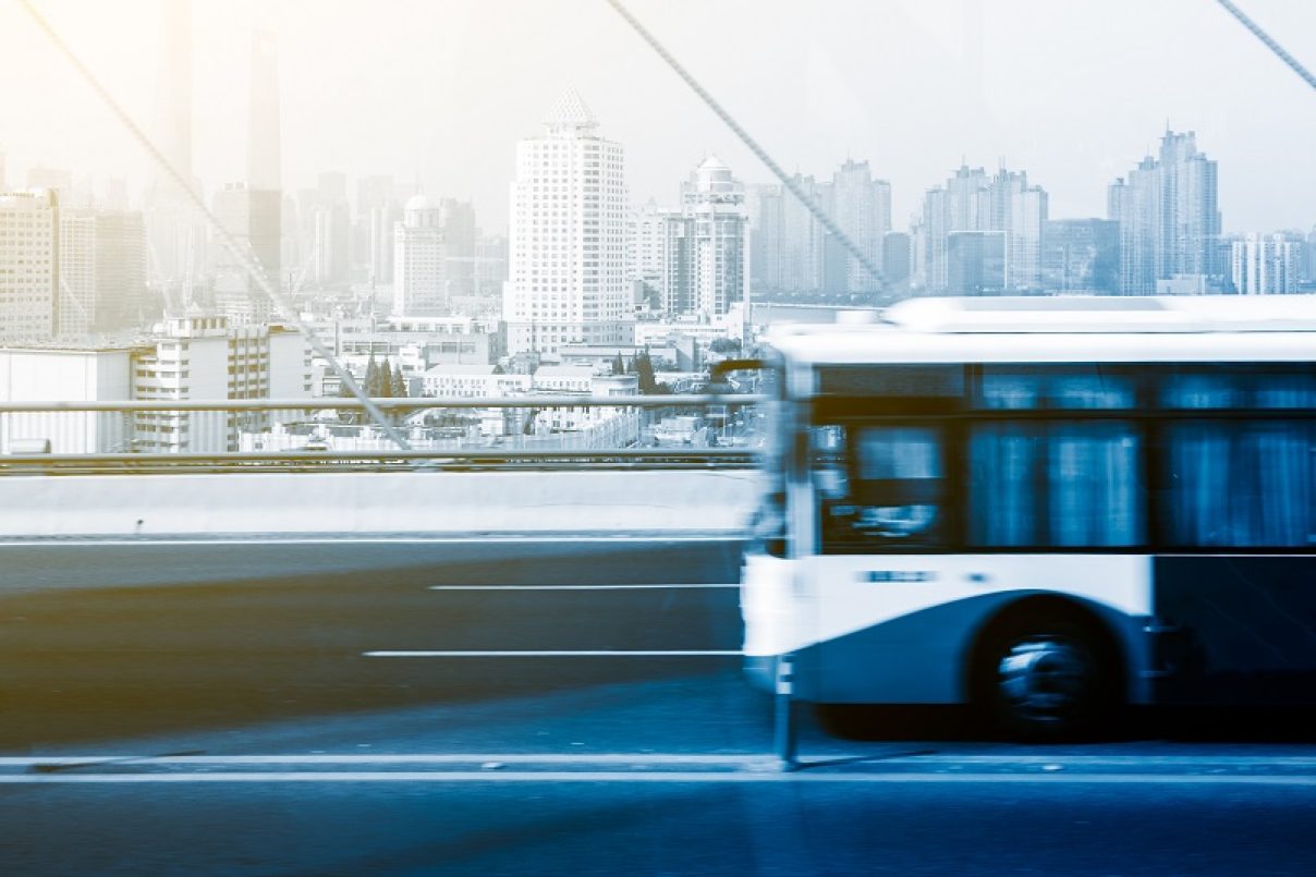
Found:
M 1030 739 L 1316 699 L 1316 296 L 911 299 L 763 346 L 758 685 Z

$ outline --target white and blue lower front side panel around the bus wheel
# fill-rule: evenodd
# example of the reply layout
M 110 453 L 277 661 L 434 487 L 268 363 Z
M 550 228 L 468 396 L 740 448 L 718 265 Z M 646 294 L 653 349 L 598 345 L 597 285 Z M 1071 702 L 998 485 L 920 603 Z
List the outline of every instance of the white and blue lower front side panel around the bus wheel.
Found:
M 1026 597 L 1073 599 L 1107 625 L 1129 678 L 1149 654 L 1152 558 L 1137 554 L 848 554 L 746 562 L 746 670 L 772 687 L 792 653 L 795 697 L 821 703 L 962 703 L 978 633 Z M 1132 702 L 1146 699 L 1130 685 Z

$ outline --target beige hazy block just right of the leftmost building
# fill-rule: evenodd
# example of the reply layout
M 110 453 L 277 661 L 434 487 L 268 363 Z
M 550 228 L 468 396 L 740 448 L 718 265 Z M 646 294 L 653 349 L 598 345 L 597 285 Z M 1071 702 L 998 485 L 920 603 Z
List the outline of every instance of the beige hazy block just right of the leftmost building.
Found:
M 62 338 L 139 328 L 158 316 L 146 306 L 141 213 L 61 212 L 58 313 Z

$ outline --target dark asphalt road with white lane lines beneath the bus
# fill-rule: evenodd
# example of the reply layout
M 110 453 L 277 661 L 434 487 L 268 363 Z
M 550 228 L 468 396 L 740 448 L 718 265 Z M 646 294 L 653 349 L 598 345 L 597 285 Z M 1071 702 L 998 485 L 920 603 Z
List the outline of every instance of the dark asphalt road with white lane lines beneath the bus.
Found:
M 776 770 L 728 543 L 0 550 L 4 873 L 1316 870 L 1288 716 L 1029 748 L 804 715 Z

